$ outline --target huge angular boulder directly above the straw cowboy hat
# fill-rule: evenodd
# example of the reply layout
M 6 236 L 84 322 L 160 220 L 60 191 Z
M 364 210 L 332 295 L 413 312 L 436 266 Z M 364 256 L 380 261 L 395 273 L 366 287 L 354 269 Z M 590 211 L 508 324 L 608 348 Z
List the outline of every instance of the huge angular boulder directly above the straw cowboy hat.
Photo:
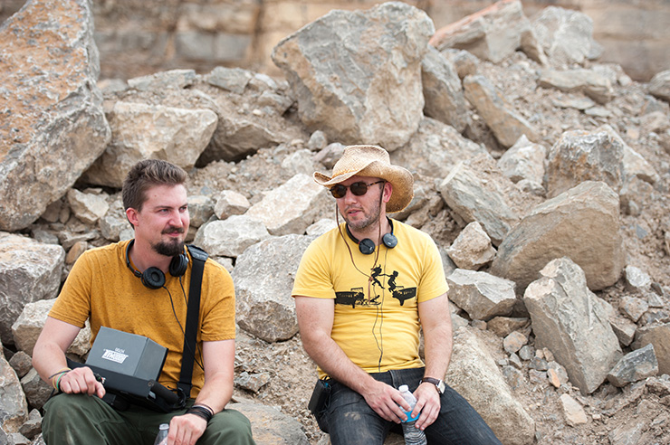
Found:
M 425 12 L 401 2 L 334 10 L 283 39 L 272 58 L 310 131 L 394 150 L 423 118 L 421 59 L 434 32 Z

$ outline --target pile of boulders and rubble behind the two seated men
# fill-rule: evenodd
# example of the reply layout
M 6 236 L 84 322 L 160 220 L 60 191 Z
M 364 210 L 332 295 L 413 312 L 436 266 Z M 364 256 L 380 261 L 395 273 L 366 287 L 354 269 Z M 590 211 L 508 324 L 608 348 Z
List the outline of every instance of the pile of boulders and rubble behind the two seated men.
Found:
M 81 252 L 132 237 L 120 185 L 147 157 L 187 169 L 189 240 L 232 271 L 232 406 L 259 444 L 329 443 L 290 291 L 335 225 L 310 175 L 353 143 L 415 175 L 395 217 L 443 253 L 446 380 L 505 445 L 670 443 L 670 72 L 601 62 L 588 15 L 505 0 L 436 31 L 388 3 L 284 38 L 282 76 L 99 81 L 91 3 L 33 0 L 0 48 L 0 443 L 43 443 L 34 342 Z

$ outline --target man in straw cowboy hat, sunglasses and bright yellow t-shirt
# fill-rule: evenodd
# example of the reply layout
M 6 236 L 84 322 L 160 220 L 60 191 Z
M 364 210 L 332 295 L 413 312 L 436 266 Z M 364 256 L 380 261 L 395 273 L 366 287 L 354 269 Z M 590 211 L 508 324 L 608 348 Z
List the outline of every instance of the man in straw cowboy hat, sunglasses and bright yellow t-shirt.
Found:
M 412 200 L 414 179 L 386 150 L 351 146 L 332 175 L 338 228 L 311 242 L 292 296 L 302 344 L 330 396 L 314 409 L 333 445 L 381 445 L 410 406 L 428 443 L 500 444 L 473 407 L 443 382 L 452 327 L 442 260 L 425 233 L 387 217 Z M 419 357 L 419 328 L 426 364 Z M 319 392 L 319 386 L 315 393 Z M 316 399 L 316 397 L 314 397 Z

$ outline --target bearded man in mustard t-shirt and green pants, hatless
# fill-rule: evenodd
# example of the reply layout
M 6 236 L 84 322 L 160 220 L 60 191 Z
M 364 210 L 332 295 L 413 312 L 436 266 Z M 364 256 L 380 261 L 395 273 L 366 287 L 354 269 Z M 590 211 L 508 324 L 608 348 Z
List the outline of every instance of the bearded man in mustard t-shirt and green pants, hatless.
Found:
M 168 349 L 159 383 L 176 390 L 184 354 L 187 298 L 193 257 L 188 231 L 187 174 L 166 161 L 133 166 L 123 184 L 123 206 L 135 231 L 120 241 L 86 251 L 72 267 L 42 334 L 33 364 L 60 394 L 44 405 L 48 445 L 153 443 L 169 423 L 168 444 L 253 444 L 240 412 L 224 410 L 233 394 L 235 289 L 213 260 L 203 271 L 191 393 L 184 409 L 155 412 L 131 404 L 125 411 L 101 398 L 104 386 L 91 368 L 67 367 L 65 351 L 89 319 L 91 343 L 101 327 L 146 336 Z M 154 269 L 151 269 L 154 268 Z

